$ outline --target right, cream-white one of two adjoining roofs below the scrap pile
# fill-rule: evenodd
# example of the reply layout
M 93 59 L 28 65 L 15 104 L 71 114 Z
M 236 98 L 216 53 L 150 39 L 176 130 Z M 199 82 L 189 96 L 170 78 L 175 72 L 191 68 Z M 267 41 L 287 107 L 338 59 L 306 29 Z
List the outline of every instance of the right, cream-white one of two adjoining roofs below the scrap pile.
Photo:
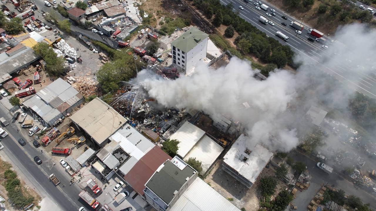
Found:
M 219 144 L 215 143 L 209 136 L 205 135 L 183 160 L 196 158 L 196 160 L 202 162 L 202 170 L 203 172 L 206 172 L 222 151 L 223 148 Z

